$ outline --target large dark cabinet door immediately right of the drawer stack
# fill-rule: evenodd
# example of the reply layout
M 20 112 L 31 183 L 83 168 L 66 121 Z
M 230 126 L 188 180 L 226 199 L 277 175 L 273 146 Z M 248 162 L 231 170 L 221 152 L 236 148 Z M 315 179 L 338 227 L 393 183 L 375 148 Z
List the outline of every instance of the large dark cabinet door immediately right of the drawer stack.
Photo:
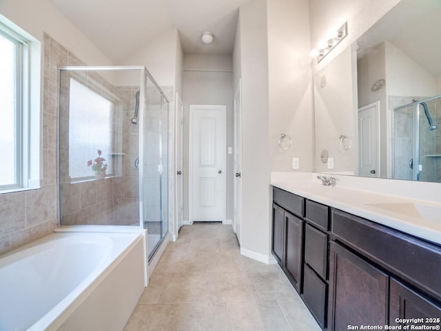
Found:
M 329 261 L 329 329 L 386 325 L 387 274 L 334 242 Z

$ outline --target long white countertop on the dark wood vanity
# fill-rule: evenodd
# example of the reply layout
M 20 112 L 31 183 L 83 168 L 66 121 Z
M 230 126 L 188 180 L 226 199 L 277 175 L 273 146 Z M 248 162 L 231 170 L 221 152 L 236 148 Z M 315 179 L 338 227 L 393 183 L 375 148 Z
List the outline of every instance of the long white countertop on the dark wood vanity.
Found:
M 272 177 L 271 185 L 390 228 L 441 244 L 441 204 L 354 188 L 324 186 L 320 181 Z M 429 211 L 425 214 L 425 211 Z M 439 213 L 438 213 L 439 211 Z

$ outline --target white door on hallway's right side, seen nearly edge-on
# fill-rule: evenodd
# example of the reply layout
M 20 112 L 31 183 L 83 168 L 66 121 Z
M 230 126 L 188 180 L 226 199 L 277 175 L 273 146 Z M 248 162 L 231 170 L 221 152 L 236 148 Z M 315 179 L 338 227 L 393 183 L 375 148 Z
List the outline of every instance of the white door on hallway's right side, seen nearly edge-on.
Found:
M 240 244 L 242 225 L 242 102 L 240 79 L 234 95 L 234 215 L 233 230 Z

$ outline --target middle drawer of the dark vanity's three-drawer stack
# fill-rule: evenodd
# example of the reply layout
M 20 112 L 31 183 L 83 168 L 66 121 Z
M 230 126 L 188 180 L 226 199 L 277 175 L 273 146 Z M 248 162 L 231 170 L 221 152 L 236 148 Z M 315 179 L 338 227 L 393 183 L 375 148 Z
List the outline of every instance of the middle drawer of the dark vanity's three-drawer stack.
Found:
M 307 224 L 305 227 L 305 263 L 313 268 L 322 279 L 327 274 L 328 236 Z

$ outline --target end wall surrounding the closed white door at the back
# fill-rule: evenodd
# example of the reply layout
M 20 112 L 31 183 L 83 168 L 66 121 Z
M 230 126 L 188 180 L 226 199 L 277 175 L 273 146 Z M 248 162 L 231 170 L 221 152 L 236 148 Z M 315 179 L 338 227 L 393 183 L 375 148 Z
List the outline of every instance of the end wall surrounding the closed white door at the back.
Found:
M 229 55 L 185 54 L 183 61 L 183 191 L 184 220 L 189 220 L 189 105 L 227 106 L 227 147 L 234 146 L 232 57 Z M 225 151 L 226 153 L 227 151 Z M 227 220 L 233 215 L 233 154 L 227 154 Z

